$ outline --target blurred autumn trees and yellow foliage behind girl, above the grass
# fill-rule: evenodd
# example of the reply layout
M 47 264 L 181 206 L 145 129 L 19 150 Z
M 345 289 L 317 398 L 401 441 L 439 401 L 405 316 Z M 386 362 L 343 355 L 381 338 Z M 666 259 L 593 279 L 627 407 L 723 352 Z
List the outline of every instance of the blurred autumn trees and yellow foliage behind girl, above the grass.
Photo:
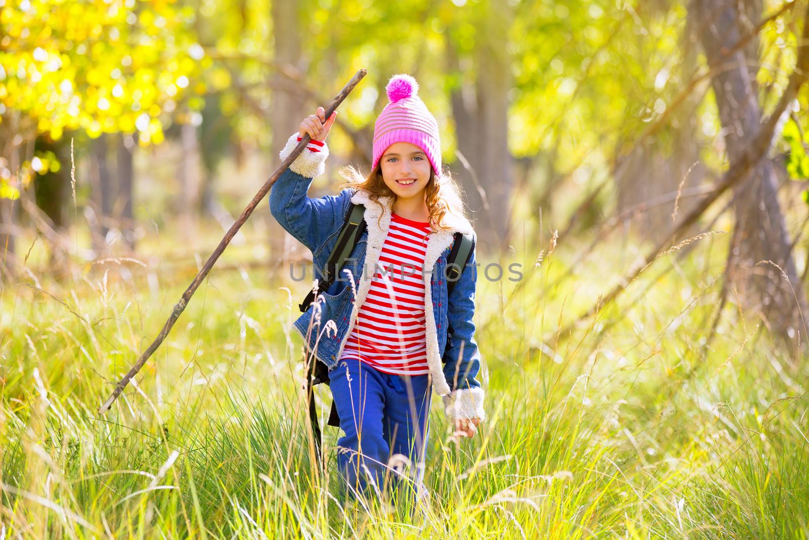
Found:
M 731 287 L 720 301 L 737 291 L 794 338 L 807 311 L 809 89 L 788 81 L 806 11 L 769 0 L 6 0 L 3 279 L 26 259 L 54 275 L 122 256 L 141 263 L 120 262 L 122 275 L 147 271 L 159 231 L 179 240 L 163 262 L 205 257 L 299 121 L 366 68 L 311 196 L 336 193 L 345 164 L 367 170 L 384 85 L 410 73 L 482 253 L 557 231 L 570 249 L 612 242 L 625 254 L 617 274 L 631 276 L 642 253 L 721 223 Z M 750 170 L 717 189 L 748 148 Z M 243 262 L 282 266 L 299 248 L 266 206 L 234 245 L 249 236 Z

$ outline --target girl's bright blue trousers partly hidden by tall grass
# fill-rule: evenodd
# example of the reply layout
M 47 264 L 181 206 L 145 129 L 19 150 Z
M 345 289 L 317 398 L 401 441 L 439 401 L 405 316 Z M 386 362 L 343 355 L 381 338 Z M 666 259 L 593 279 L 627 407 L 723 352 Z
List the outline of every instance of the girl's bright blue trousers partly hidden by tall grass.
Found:
M 406 484 L 417 493 L 430 430 L 430 376 L 391 375 L 341 359 L 328 378 L 345 432 L 337 440 L 337 467 L 347 491 L 364 492 L 373 483 L 379 492 Z M 398 467 L 403 460 L 391 460 L 395 454 L 411 465 Z

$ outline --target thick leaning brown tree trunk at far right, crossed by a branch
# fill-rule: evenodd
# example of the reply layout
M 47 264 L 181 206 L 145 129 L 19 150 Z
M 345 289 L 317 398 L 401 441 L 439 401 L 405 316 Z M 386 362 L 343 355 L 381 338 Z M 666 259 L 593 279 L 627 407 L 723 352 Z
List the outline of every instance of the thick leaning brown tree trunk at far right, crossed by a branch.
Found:
M 760 19 L 760 0 L 700 0 L 693 5 L 700 20 L 699 38 L 710 66 L 718 66 L 711 80 L 722 121 L 728 159 L 739 158 L 760 129 L 761 108 L 755 74 L 758 40 L 722 60 Z M 777 198 L 778 183 L 772 160 L 762 159 L 748 178 L 735 187 L 735 222 L 727 278 L 739 290 L 745 308 L 760 313 L 770 330 L 781 338 L 794 338 L 803 330 L 801 311 L 807 301 L 790 251 L 790 236 Z M 768 261 L 759 264 L 761 261 Z M 786 274 L 781 274 L 772 261 Z M 793 292 L 794 290 L 794 292 Z M 795 296 L 797 296 L 797 301 Z M 806 340 L 803 336 L 802 341 Z

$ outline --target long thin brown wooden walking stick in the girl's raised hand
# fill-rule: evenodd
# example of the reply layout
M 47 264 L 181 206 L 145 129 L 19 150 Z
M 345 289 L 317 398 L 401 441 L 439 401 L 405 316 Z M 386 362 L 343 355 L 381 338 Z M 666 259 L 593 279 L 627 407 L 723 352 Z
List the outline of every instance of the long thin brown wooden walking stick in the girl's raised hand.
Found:
M 351 78 L 348 84 L 346 84 L 345 87 L 343 87 L 340 93 L 337 94 L 337 97 L 335 97 L 332 100 L 332 103 L 328 105 L 328 108 L 326 108 L 325 113 L 326 118 L 332 116 L 332 113 L 337 109 L 337 107 L 340 106 L 343 100 L 345 100 L 345 97 L 348 96 L 352 90 L 354 90 L 354 87 L 356 87 L 357 84 L 362 80 L 362 78 L 365 77 L 366 73 L 367 73 L 366 70 L 359 70 L 356 74 L 354 74 L 354 77 Z M 222 241 L 219 242 L 218 246 L 216 246 L 216 249 L 214 249 L 214 253 L 211 253 L 210 257 L 208 257 L 208 260 L 205 261 L 205 266 L 202 267 L 202 270 L 199 271 L 197 277 L 194 278 L 193 282 L 191 282 L 191 285 L 189 285 L 188 288 L 185 290 L 182 298 L 180 298 L 180 301 L 175 304 L 174 309 L 172 310 L 172 315 L 168 317 L 168 320 L 166 321 L 166 324 L 163 325 L 163 330 L 160 330 L 160 334 L 158 335 L 158 337 L 155 339 L 154 342 L 152 342 L 149 348 L 146 349 L 146 352 L 144 352 L 141 355 L 141 357 L 138 359 L 138 362 L 132 366 L 132 369 L 130 369 L 129 372 L 127 372 L 124 378 L 121 379 L 121 381 L 118 381 L 118 384 L 115 385 L 115 389 L 112 390 L 112 395 L 110 395 L 110 397 L 107 398 L 107 401 L 104 402 L 104 405 L 100 406 L 99 414 L 104 414 L 104 412 L 106 412 L 109 409 L 109 407 L 112 405 L 112 402 L 115 402 L 116 398 L 118 398 L 118 396 L 121 395 L 121 392 L 125 389 L 126 385 L 129 383 L 129 380 L 132 379 L 133 376 L 138 374 L 140 369 L 143 367 L 143 364 L 146 364 L 146 360 L 148 360 L 149 357 L 157 350 L 157 348 L 160 347 L 160 343 L 163 342 L 163 339 L 165 339 L 168 333 L 172 330 L 172 326 L 174 326 L 174 323 L 177 321 L 177 317 L 180 317 L 180 313 L 183 313 L 185 306 L 188 305 L 188 300 L 191 300 L 191 296 L 193 296 L 194 291 L 197 291 L 197 287 L 200 286 L 202 280 L 205 279 L 205 276 L 207 276 L 208 272 L 210 272 L 211 267 L 214 266 L 214 263 L 217 261 L 219 256 L 222 255 L 222 252 L 227 247 L 227 244 L 230 244 L 233 236 L 235 236 L 236 232 L 239 232 L 239 228 L 241 228 L 241 226 L 244 225 L 244 222 L 247 221 L 247 219 L 250 217 L 252 211 L 256 210 L 256 206 L 258 206 L 258 203 L 261 202 L 261 199 L 265 198 L 265 195 L 269 192 L 269 189 L 273 187 L 273 184 L 275 184 L 275 181 L 277 181 L 278 177 L 282 175 L 282 172 L 286 171 L 286 168 L 289 167 L 290 164 L 292 164 L 292 162 L 303 151 L 303 149 L 306 148 L 310 140 L 311 138 L 309 137 L 309 135 L 304 134 L 303 139 L 301 140 L 301 142 L 298 143 L 298 146 L 294 148 L 292 153 L 288 155 L 286 159 L 284 159 L 284 161 L 277 168 L 277 170 L 273 172 L 273 176 L 270 176 L 269 180 L 265 182 L 265 185 L 261 186 L 261 189 L 259 189 L 258 193 L 256 193 L 256 196 L 252 198 L 252 201 L 250 202 L 250 204 L 248 204 L 247 208 L 244 209 L 242 215 L 239 216 L 239 219 L 236 219 L 235 223 L 233 223 L 233 225 L 231 225 L 231 228 L 228 229 L 227 233 L 225 234 L 225 237 L 222 238 Z

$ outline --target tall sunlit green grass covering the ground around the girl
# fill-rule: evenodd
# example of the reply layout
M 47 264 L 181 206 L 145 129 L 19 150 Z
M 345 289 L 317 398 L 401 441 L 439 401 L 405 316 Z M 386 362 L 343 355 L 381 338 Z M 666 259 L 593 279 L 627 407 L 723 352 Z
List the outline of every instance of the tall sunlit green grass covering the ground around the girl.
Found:
M 214 267 L 100 417 L 196 265 L 163 261 L 164 239 L 156 270 L 59 285 L 32 257 L 0 293 L 0 538 L 809 538 L 809 366 L 735 304 L 706 344 L 722 249 L 667 274 L 664 257 L 557 338 L 622 273 L 604 249 L 557 281 L 567 250 L 513 297 L 479 282 L 489 418 L 457 443 L 434 405 L 415 512 L 338 504 L 332 427 L 324 474 L 311 466 L 290 331 L 303 284 Z

